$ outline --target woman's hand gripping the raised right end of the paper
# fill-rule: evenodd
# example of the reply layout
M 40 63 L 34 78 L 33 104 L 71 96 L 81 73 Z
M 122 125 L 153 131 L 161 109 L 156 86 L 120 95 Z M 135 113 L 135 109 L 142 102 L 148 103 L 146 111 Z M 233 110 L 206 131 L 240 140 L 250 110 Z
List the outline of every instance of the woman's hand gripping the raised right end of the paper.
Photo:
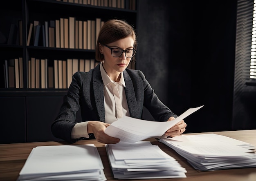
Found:
M 174 117 L 170 117 L 167 121 L 173 121 L 175 118 Z M 186 123 L 184 122 L 184 120 L 178 122 L 176 125 L 174 125 L 173 127 L 171 127 L 169 130 L 167 130 L 165 132 L 165 136 L 170 136 L 170 137 L 174 137 L 174 136 L 179 136 L 182 133 L 184 133 L 186 130 Z

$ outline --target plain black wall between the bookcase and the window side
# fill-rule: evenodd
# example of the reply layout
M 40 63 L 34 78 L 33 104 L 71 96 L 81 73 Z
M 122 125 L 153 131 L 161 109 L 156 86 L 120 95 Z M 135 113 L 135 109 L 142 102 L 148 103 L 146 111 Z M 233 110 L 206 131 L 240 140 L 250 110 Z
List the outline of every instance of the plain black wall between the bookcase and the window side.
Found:
M 138 1 L 136 68 L 177 115 L 186 132 L 231 130 L 236 1 Z M 145 111 L 145 118 L 150 119 Z

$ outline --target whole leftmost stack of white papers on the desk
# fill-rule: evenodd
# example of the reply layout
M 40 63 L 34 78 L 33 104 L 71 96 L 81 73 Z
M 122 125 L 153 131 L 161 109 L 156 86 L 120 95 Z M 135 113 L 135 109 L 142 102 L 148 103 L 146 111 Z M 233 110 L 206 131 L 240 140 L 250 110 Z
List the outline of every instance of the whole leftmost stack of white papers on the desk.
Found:
M 56 145 L 33 148 L 18 181 L 106 181 L 97 147 Z

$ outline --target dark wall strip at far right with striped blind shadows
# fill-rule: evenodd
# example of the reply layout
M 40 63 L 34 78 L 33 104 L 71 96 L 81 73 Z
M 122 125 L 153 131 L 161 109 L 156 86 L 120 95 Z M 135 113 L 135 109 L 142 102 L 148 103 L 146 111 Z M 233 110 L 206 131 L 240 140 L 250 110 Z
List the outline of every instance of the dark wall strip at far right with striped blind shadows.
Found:
M 234 130 L 256 128 L 256 80 L 249 79 L 254 0 L 239 0 L 233 95 Z

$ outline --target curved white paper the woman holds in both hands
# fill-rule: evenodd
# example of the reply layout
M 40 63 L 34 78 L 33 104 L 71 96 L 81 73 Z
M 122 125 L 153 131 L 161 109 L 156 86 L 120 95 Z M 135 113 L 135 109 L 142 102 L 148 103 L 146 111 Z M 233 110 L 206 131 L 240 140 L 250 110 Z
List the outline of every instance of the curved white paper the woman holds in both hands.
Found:
M 152 137 L 160 137 L 169 128 L 173 127 L 179 121 L 183 120 L 201 107 L 203 107 L 203 105 L 200 107 L 189 108 L 173 121 L 165 122 L 146 121 L 124 116 L 107 127 L 105 133 L 127 143 L 135 143 Z

